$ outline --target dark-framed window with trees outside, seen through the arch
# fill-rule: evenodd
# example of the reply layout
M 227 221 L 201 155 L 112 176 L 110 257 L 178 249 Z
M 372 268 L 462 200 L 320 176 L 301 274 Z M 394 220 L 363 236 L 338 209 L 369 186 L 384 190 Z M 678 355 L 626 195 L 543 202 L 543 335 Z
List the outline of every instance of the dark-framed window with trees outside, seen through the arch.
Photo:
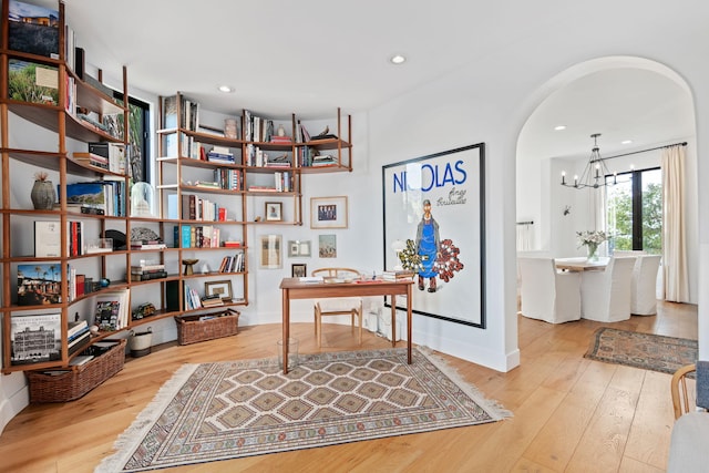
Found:
M 606 176 L 606 182 L 614 178 Z M 662 253 L 662 172 L 659 167 L 618 175 L 618 184 L 606 187 L 606 222 L 613 236 L 609 249 Z

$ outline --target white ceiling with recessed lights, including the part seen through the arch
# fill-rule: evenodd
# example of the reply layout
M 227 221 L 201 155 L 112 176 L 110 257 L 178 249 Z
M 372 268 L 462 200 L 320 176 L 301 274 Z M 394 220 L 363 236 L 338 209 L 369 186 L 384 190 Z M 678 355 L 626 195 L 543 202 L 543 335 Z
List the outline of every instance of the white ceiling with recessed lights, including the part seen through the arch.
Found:
M 65 12 L 86 61 L 114 74 L 125 64 L 130 86 L 156 95 L 178 88 L 217 112 L 304 119 L 337 106 L 364 112 L 538 28 L 589 14 L 564 0 L 65 0 Z M 391 65 L 394 53 L 409 61 Z M 219 84 L 236 92 L 217 92 Z M 568 128 L 554 132 L 557 124 Z M 592 133 L 603 133 L 602 154 L 625 138 L 637 147 L 693 135 L 691 104 L 648 71 L 596 73 L 537 109 L 520 154 L 588 154 Z

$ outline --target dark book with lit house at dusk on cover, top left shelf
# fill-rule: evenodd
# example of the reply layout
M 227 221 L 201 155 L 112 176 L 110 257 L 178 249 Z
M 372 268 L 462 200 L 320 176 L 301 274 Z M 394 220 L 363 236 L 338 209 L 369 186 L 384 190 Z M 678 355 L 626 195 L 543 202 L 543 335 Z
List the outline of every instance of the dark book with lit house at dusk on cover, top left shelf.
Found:
M 8 47 L 59 59 L 59 11 L 17 0 L 9 3 Z

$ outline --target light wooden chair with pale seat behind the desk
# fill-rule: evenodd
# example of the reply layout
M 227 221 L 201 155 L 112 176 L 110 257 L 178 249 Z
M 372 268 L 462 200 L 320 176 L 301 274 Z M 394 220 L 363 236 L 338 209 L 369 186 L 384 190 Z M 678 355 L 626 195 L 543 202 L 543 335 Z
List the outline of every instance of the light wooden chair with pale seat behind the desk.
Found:
M 322 278 L 359 279 L 360 273 L 351 268 L 320 268 L 312 271 L 312 276 Z M 350 315 L 352 328 L 354 328 L 354 317 L 359 325 L 359 345 L 362 345 L 362 298 L 361 297 L 332 297 L 327 299 L 316 299 L 315 301 L 315 336 L 318 339 L 318 347 L 322 345 L 322 317 Z

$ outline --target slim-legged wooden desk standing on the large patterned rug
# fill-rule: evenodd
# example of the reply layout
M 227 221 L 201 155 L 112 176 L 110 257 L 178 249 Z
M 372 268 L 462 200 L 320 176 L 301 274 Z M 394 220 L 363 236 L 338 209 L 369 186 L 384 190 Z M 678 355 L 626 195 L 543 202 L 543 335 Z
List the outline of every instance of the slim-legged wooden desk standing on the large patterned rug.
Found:
M 411 364 L 411 288 L 412 280 L 364 282 L 301 282 L 298 278 L 280 281 L 282 296 L 284 340 L 290 337 L 290 301 L 292 299 L 321 299 L 328 297 L 391 296 L 391 346 L 397 346 L 397 296 L 407 296 L 407 349 Z M 288 342 L 284 342 L 284 374 L 288 373 Z

